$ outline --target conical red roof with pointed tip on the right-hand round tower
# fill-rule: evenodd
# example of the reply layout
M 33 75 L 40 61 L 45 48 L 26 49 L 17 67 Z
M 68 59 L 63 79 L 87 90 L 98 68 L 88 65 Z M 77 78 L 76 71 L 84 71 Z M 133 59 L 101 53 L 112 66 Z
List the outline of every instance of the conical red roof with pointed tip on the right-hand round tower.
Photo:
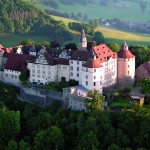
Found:
M 124 42 L 121 50 L 118 52 L 118 58 L 135 58 L 135 56 L 128 50 L 126 42 Z

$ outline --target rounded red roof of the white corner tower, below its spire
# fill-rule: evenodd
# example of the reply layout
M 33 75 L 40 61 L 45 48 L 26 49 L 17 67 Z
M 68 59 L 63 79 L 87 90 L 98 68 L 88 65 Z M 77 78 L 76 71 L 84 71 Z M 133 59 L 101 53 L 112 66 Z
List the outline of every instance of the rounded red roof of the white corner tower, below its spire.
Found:
M 100 63 L 99 59 L 89 59 L 85 64 L 83 64 L 83 67 L 87 67 L 87 68 L 101 68 L 103 67 Z

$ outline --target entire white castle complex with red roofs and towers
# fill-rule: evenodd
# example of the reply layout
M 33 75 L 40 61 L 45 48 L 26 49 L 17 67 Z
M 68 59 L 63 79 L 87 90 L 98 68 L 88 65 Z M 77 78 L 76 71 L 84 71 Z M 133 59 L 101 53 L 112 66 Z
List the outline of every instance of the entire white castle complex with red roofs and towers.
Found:
M 27 70 L 30 71 L 30 83 L 46 85 L 75 79 L 87 90 L 96 89 L 103 93 L 103 87 L 130 87 L 134 84 L 135 56 L 128 50 L 125 41 L 118 54 L 105 44 L 87 50 L 84 29 L 78 50 L 71 55 L 64 50 L 54 57 L 45 47 L 38 53 L 33 47 L 29 54 L 6 53 L 0 47 L 0 80 L 17 84 L 20 73 Z

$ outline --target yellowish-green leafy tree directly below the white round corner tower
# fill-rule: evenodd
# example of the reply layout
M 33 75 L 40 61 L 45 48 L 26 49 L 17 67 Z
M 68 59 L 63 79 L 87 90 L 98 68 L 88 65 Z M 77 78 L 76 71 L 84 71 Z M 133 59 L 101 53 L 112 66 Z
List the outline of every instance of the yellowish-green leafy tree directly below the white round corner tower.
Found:
M 88 96 L 92 99 L 86 99 L 85 101 L 87 110 L 94 111 L 102 109 L 102 103 L 105 100 L 105 96 L 100 94 L 99 91 L 95 89 L 90 91 Z

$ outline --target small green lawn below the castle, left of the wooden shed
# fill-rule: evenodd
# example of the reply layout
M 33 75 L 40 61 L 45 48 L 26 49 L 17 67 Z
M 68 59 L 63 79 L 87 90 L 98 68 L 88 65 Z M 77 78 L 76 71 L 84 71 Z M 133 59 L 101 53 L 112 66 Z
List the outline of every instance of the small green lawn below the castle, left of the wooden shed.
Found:
M 130 98 L 129 97 L 114 97 L 114 99 L 108 103 L 110 107 L 129 107 L 130 106 Z

